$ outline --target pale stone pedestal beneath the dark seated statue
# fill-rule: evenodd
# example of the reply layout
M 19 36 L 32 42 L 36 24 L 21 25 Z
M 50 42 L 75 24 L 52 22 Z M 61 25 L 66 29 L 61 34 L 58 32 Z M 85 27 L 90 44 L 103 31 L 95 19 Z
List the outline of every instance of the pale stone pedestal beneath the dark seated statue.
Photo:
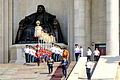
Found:
M 60 45 L 61 47 L 67 47 L 67 45 L 63 43 L 55 43 Z M 25 53 L 24 48 L 26 45 L 31 45 L 35 47 L 37 44 L 15 44 L 10 46 L 10 63 L 25 63 Z M 47 47 L 48 49 L 51 47 L 51 44 L 40 44 L 41 46 Z

